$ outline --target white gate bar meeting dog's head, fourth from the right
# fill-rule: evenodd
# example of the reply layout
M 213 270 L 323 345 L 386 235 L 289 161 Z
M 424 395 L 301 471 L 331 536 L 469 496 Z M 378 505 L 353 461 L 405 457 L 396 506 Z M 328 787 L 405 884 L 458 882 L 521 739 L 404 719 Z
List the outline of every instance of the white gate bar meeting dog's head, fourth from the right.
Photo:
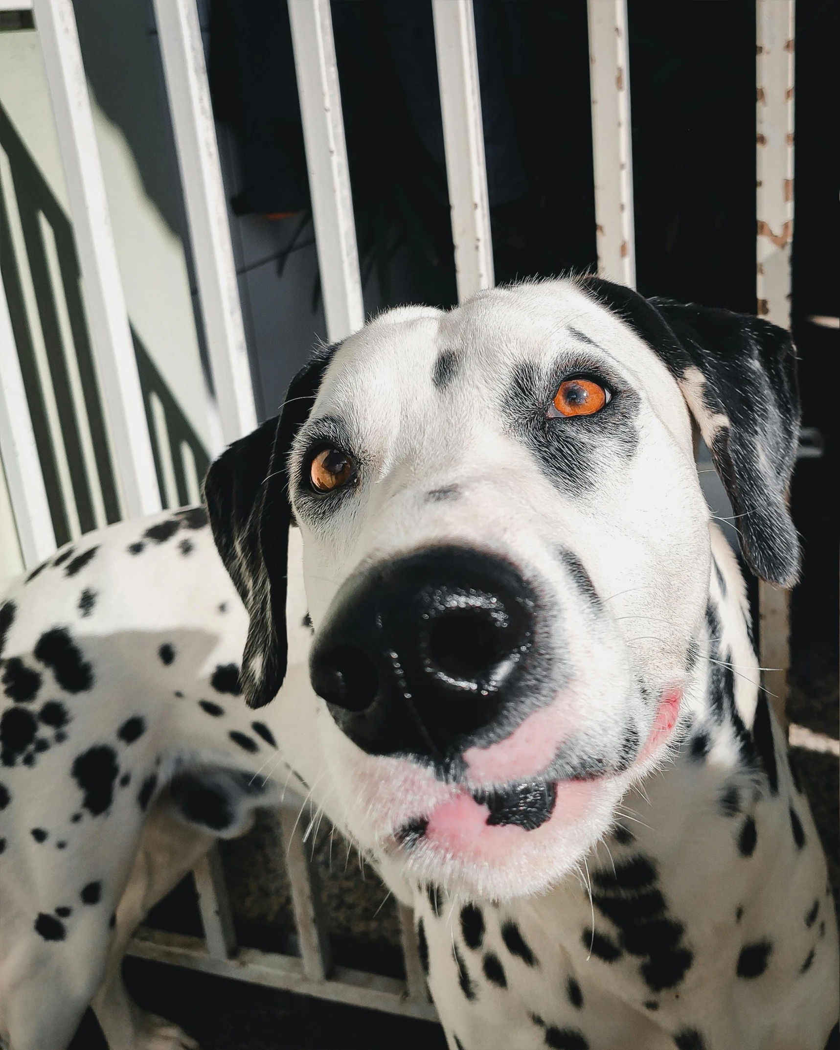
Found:
M 309 191 L 330 342 L 364 323 L 330 0 L 289 0 Z

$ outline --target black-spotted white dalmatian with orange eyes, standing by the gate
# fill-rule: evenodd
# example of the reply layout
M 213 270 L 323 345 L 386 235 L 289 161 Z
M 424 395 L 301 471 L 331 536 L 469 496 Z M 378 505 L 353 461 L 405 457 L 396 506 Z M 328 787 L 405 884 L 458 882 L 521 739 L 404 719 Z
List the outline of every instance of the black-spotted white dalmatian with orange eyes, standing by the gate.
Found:
M 92 1004 L 111 1050 L 193 1047 L 126 943 L 287 785 L 414 907 L 452 1050 L 836 1038 L 824 858 L 695 465 L 702 436 L 747 565 L 793 584 L 794 369 L 762 320 L 597 278 L 394 310 L 211 466 L 209 527 L 15 583 L 4 1046 Z

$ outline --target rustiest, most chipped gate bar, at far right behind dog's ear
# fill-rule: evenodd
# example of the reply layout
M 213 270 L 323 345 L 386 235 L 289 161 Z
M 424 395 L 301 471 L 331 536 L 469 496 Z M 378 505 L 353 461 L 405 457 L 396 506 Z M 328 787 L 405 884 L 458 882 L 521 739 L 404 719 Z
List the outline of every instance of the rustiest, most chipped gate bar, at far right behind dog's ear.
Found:
M 759 317 L 791 327 L 794 232 L 794 0 L 756 0 L 756 297 Z M 790 593 L 759 583 L 764 685 L 784 720 Z

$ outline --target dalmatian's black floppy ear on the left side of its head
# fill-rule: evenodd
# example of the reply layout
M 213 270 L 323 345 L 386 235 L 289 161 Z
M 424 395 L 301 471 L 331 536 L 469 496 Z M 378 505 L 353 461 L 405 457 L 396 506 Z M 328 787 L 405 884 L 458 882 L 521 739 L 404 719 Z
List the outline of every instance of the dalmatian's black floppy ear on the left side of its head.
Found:
M 286 677 L 292 520 L 288 459 L 335 350 L 329 346 L 321 351 L 297 373 L 280 415 L 234 441 L 210 464 L 204 482 L 213 539 L 248 610 L 240 681 L 251 708 L 272 700 Z

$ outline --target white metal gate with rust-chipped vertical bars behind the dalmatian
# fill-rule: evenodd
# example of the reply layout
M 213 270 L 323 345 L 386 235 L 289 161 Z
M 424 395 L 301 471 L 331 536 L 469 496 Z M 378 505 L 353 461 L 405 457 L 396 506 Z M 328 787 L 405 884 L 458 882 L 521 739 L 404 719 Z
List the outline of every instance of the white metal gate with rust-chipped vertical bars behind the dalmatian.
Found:
M 328 338 L 364 321 L 353 202 L 329 0 L 288 0 Z M 458 298 L 494 284 L 472 0 L 430 0 Z M 627 0 L 587 0 L 598 272 L 635 285 Z M 790 328 L 795 0 L 756 0 L 758 312 Z M 195 0 L 153 0 L 213 384 L 212 439 L 256 425 L 210 91 Z M 152 444 L 110 229 L 71 0 L 0 0 L 32 9 L 56 114 L 93 356 L 126 517 L 159 510 Z M 0 455 L 25 566 L 55 549 L 5 293 L 0 286 Z M 783 717 L 790 665 L 788 592 L 761 584 L 760 657 Z M 290 800 L 291 802 L 291 800 Z M 299 803 L 299 804 L 302 804 Z M 254 984 L 433 1021 L 411 909 L 399 919 L 406 981 L 335 967 L 317 879 L 297 819 L 281 830 L 300 957 L 236 944 L 216 847 L 195 866 L 204 939 L 141 928 L 128 953 Z

